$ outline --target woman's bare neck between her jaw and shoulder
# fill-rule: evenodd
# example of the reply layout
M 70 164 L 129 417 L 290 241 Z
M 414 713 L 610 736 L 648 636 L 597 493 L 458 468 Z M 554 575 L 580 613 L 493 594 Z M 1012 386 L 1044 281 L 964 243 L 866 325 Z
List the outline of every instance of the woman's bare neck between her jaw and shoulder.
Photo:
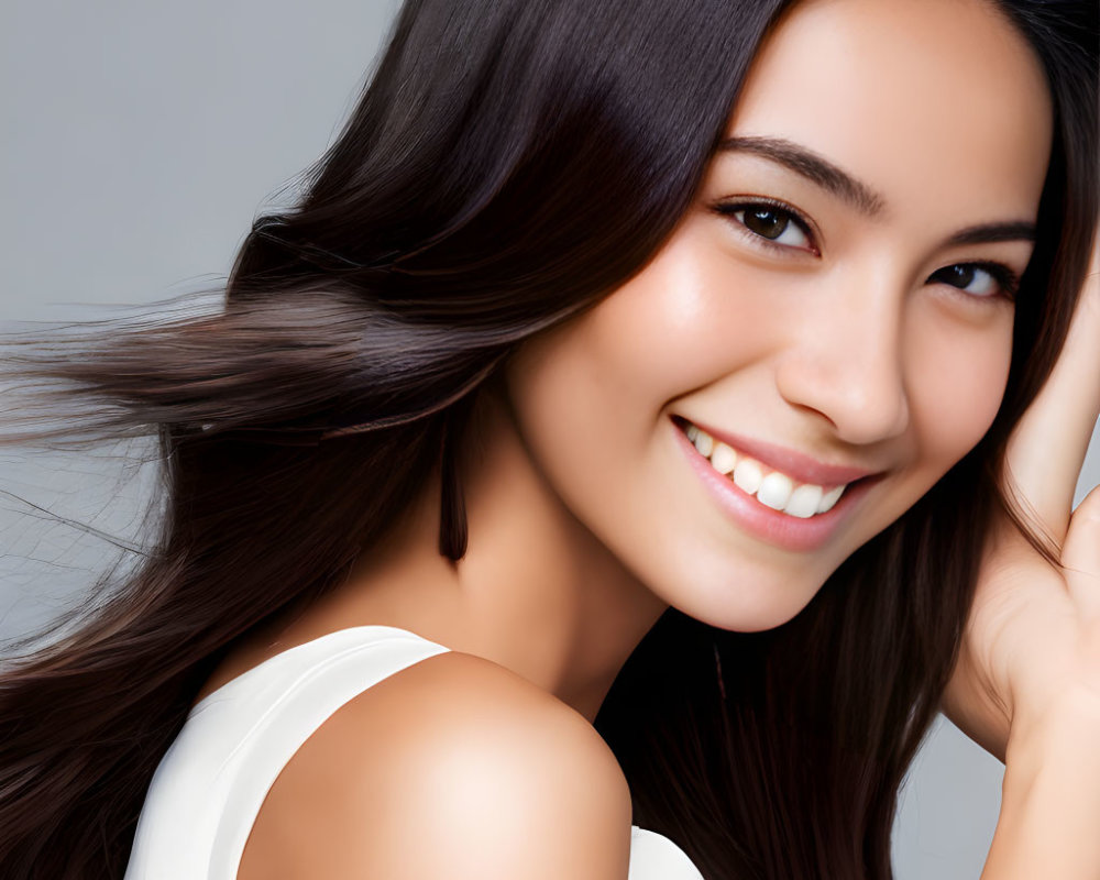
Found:
M 469 541 L 438 550 L 438 474 L 339 591 L 341 616 L 410 629 L 499 663 L 595 718 L 666 603 L 539 473 L 505 406 L 483 394 L 459 457 Z M 344 624 L 349 625 L 349 624 Z

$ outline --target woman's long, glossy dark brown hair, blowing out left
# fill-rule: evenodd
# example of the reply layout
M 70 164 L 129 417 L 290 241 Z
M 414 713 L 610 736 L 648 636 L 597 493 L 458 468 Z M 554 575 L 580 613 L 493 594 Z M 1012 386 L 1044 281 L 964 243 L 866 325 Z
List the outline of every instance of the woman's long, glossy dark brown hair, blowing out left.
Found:
M 339 584 L 432 473 L 440 552 L 462 556 L 454 448 L 479 388 L 659 250 L 785 6 L 407 0 L 297 206 L 254 223 L 223 306 L 7 340 L 15 392 L 68 419 L 52 428 L 29 405 L 2 439 L 153 437 L 166 507 L 79 626 L 7 661 L 0 873 L 120 877 L 153 770 L 218 659 Z M 733 634 L 670 610 L 597 718 L 636 821 L 710 880 L 891 876 L 897 790 L 1097 210 L 1096 11 L 1001 6 L 1043 59 L 1057 133 L 993 427 L 791 623 Z

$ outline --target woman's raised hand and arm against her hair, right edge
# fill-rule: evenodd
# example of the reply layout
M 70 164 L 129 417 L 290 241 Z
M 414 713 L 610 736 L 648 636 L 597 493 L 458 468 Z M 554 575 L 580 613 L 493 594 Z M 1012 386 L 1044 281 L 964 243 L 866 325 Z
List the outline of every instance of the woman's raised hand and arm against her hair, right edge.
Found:
M 1053 542 L 1048 560 L 1002 512 L 944 711 L 1007 762 L 983 880 L 1100 876 L 1100 486 L 1072 509 L 1100 416 L 1100 245 L 1046 384 L 1009 440 L 1007 495 Z

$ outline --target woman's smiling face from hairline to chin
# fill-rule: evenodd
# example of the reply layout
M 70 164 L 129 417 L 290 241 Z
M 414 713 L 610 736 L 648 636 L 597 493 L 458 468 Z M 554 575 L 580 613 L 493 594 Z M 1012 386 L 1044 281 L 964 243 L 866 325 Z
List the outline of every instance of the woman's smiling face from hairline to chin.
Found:
M 664 602 L 789 620 L 993 421 L 1052 124 L 989 3 L 798 4 L 667 244 L 509 363 L 540 472 Z

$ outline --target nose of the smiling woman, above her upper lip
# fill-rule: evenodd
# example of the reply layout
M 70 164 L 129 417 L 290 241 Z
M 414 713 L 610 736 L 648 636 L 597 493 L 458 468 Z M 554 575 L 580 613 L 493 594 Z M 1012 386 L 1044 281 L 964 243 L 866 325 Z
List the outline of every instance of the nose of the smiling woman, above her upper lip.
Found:
M 901 282 L 882 273 L 849 275 L 822 289 L 817 280 L 802 317 L 789 326 L 793 336 L 776 371 L 780 395 L 824 417 L 838 440 L 898 437 L 910 421 Z

